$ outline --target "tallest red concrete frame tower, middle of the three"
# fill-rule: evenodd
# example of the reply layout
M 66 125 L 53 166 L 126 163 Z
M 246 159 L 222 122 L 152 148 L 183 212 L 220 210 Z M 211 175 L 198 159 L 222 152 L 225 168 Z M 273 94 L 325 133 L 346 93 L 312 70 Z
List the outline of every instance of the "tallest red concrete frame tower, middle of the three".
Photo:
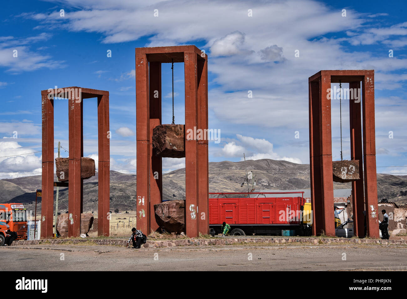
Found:
M 186 132 L 208 129 L 208 59 L 194 45 L 136 48 L 137 228 L 145 234 L 159 228 L 154 204 L 162 201 L 162 158 L 152 154 L 152 136 L 161 124 L 161 63 L 172 60 L 185 69 L 185 225 L 196 237 L 209 231 L 208 140 L 187 139 Z

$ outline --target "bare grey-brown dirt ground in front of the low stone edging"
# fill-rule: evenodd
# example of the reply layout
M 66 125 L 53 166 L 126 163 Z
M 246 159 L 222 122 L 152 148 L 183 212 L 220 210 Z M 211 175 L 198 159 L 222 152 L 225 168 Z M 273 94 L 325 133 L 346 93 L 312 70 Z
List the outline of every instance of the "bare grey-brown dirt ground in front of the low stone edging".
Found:
M 7 264 L 9 271 L 405 271 L 407 251 L 405 246 L 396 245 L 257 244 L 129 249 L 42 244 L 0 247 L 0 264 Z

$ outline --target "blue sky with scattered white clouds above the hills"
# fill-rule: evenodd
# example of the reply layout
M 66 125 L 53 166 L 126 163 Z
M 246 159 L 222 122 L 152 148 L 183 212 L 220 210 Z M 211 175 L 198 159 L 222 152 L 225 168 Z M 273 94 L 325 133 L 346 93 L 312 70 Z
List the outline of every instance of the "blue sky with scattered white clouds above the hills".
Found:
M 308 77 L 321 69 L 374 69 L 378 172 L 407 173 L 405 1 L 190 3 L 32 0 L 2 4 L 0 176 L 41 171 L 40 91 L 55 85 L 109 91 L 111 164 L 120 167 L 111 169 L 134 172 L 134 49 L 185 44 L 208 54 L 209 128 L 221 132 L 220 143 L 210 141 L 209 161 L 240 161 L 244 152 L 249 159 L 309 163 Z M 18 51 L 17 57 L 13 50 Z M 107 57 L 107 50 L 112 57 Z M 294 56 L 295 50 L 299 57 Z M 253 98 L 247 97 L 249 90 Z M 171 123 L 170 64 L 162 66 L 162 93 L 162 121 Z M 175 93 L 175 122 L 183 124 L 181 63 L 175 64 Z M 332 102 L 332 107 L 333 159 L 338 160 L 339 103 Z M 346 104 L 343 111 L 344 158 L 349 158 Z M 84 152 L 95 159 L 96 116 L 96 100 L 85 100 Z M 300 138 L 295 138 L 296 131 Z M 55 100 L 55 147 L 58 141 L 68 148 L 66 100 Z M 32 152 L 37 153 L 26 154 Z M 4 157 L 21 154 L 26 155 Z M 62 150 L 61 155 L 68 153 Z M 165 170 L 184 166 L 183 159 L 163 163 Z

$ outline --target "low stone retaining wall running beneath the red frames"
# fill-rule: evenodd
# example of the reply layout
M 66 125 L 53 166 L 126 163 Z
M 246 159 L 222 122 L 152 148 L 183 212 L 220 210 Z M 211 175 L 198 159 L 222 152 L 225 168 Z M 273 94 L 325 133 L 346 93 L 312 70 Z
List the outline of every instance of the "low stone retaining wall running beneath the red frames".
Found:
M 126 246 L 126 240 L 119 239 L 46 239 L 46 240 L 29 240 L 14 241 L 13 245 L 38 245 L 38 244 L 61 244 L 71 243 L 80 244 L 83 242 L 94 242 L 97 245 L 115 245 Z M 311 244 L 336 244 L 336 243 L 354 243 L 354 244 L 382 244 L 382 245 L 407 245 L 407 240 L 375 240 L 375 239 L 357 239 L 357 238 L 225 238 L 225 239 L 182 239 L 182 240 L 164 240 L 155 241 L 147 240 L 143 246 L 145 248 L 153 247 L 174 247 L 174 246 L 191 246 L 191 245 L 230 245 L 236 243 L 311 243 Z

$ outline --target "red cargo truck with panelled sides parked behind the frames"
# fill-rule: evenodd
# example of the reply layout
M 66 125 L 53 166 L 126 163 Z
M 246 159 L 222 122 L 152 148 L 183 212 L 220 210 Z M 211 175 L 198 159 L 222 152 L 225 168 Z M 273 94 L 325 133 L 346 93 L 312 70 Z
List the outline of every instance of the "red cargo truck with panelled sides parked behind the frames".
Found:
M 266 197 L 267 194 L 281 192 L 247 193 L 246 197 L 236 197 L 242 193 L 209 193 L 209 228 L 220 234 L 223 221 L 230 225 L 230 235 L 305 235 L 304 230 L 311 227 L 312 215 L 308 213 L 304 192 L 301 196 Z M 219 198 L 225 196 L 226 198 Z M 227 198 L 227 196 L 235 196 Z M 281 195 L 280 195 L 281 196 Z M 304 213 L 304 215 L 303 215 Z

